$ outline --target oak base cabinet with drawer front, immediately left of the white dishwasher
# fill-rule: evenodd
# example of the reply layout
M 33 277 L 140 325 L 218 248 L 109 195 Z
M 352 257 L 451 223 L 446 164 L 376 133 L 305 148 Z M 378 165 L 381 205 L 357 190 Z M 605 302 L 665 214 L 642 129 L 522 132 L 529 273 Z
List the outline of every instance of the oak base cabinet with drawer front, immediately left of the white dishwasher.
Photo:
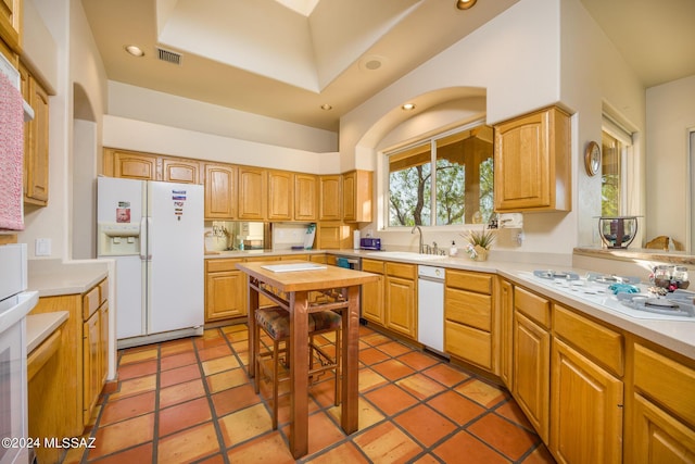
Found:
M 417 339 L 417 265 L 386 263 L 386 327 Z

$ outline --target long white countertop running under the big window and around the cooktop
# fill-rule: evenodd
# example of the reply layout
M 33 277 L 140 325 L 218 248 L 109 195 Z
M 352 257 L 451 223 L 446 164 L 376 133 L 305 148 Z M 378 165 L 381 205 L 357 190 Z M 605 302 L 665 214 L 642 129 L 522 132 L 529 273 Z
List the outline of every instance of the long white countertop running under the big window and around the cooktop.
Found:
M 483 262 L 471 261 L 463 252 L 456 258 L 443 256 L 435 259 L 422 260 L 416 253 L 414 259 L 393 258 L 389 253 L 375 252 L 368 250 L 301 250 L 301 251 L 223 251 L 219 258 L 247 258 L 247 256 L 275 256 L 281 254 L 311 254 L 311 253 L 328 253 L 341 256 L 368 258 L 372 260 L 395 261 L 409 264 L 420 264 L 429 266 L 441 266 L 462 271 L 472 271 L 481 273 L 497 274 L 514 284 L 521 285 L 530 290 L 536 291 L 551 298 L 558 303 L 566 304 L 570 308 L 579 310 L 590 316 L 621 328 L 626 331 L 634 334 L 646 340 L 658 343 L 677 353 L 683 354 L 695 360 L 695 318 L 690 321 L 667 321 L 667 319 L 643 319 L 632 317 L 607 306 L 593 303 L 587 300 L 574 298 L 571 294 L 554 290 L 549 286 L 541 285 L 531 277 L 534 269 L 554 268 L 556 271 L 570 271 L 579 275 L 585 275 L 589 271 L 572 266 L 547 266 L 542 263 L 519 263 L 509 261 L 489 260 Z M 211 258 L 211 256 L 206 256 Z M 641 276 L 644 277 L 644 276 Z

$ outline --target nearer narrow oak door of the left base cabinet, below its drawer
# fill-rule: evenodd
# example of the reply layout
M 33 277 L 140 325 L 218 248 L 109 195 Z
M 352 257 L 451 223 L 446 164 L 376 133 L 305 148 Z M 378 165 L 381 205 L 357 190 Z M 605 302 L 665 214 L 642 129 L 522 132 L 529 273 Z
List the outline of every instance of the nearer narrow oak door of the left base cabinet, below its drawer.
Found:
M 83 324 L 83 421 L 89 423 L 91 411 L 99 399 L 101 366 L 99 365 L 101 328 L 97 311 Z

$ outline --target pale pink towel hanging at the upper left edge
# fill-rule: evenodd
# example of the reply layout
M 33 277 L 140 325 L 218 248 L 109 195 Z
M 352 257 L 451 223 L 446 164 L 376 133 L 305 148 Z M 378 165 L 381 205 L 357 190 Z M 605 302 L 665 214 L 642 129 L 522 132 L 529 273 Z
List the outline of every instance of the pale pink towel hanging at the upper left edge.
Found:
M 23 163 L 22 95 L 0 73 L 0 229 L 24 230 Z

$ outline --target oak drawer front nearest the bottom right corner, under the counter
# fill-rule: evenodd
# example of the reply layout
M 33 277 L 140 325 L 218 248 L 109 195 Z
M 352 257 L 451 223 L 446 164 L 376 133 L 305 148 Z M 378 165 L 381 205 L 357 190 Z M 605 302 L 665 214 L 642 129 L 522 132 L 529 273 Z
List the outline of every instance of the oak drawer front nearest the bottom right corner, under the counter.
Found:
M 635 343 L 634 387 L 695 426 L 695 371 Z

